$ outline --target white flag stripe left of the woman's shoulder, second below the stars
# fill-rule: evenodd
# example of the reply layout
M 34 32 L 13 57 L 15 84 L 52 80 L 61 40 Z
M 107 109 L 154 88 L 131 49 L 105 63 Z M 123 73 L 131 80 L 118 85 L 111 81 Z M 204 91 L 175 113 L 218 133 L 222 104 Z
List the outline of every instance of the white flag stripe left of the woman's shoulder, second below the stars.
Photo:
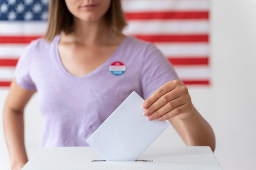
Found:
M 26 48 L 27 45 L 13 45 L 13 44 L 4 44 L 0 45 L 0 58 L 13 58 L 19 57 Z

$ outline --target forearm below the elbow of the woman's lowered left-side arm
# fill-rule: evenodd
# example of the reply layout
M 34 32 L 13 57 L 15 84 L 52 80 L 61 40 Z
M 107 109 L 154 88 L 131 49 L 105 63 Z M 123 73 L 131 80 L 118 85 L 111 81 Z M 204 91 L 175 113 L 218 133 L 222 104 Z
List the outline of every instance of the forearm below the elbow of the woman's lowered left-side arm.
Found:
M 3 111 L 3 128 L 11 168 L 12 170 L 20 170 L 28 161 L 24 142 L 23 111 L 13 111 L 5 106 Z

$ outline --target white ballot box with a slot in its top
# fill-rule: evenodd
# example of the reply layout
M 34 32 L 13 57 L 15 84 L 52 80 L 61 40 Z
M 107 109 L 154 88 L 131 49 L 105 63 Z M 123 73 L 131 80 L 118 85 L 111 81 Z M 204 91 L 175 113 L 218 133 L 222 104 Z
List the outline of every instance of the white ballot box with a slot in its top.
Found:
M 104 161 L 88 146 L 40 148 L 22 170 L 222 169 L 208 146 L 150 146 L 136 161 Z

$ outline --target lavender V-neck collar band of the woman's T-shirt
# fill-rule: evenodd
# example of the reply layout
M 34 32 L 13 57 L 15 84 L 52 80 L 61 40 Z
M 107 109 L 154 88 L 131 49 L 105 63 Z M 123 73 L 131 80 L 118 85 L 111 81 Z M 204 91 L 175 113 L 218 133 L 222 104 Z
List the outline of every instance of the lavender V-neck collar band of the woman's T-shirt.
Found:
M 115 50 L 115 52 L 104 63 L 102 63 L 101 65 L 99 65 L 99 67 L 97 67 L 96 69 L 92 70 L 91 72 L 89 72 L 83 76 L 75 76 L 75 75 L 71 74 L 70 72 L 68 72 L 67 69 L 64 67 L 64 65 L 61 61 L 59 51 L 58 51 L 58 44 L 61 39 L 61 34 L 59 34 L 55 37 L 55 41 L 54 41 L 55 58 L 56 58 L 57 64 L 58 64 L 61 72 L 63 72 L 67 77 L 72 78 L 74 81 L 81 81 L 83 79 L 89 78 L 90 76 L 97 74 L 105 66 L 110 65 L 114 61 L 114 59 L 118 56 L 118 53 L 124 48 L 126 41 L 128 41 L 129 38 L 130 38 L 129 36 L 126 36 L 126 38 L 118 46 L 117 50 Z

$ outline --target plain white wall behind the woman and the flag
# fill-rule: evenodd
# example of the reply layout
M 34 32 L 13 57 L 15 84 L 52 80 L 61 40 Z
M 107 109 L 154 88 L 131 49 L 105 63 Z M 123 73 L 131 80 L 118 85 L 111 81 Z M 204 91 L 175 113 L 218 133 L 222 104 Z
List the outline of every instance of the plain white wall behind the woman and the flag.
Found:
M 194 105 L 216 135 L 215 155 L 223 170 L 256 169 L 256 1 L 211 0 L 210 87 L 189 87 Z M 7 96 L 0 90 L 0 110 Z M 0 118 L 0 169 L 9 158 Z M 25 114 L 26 147 L 31 157 L 40 145 L 42 120 L 37 96 Z M 153 145 L 184 145 L 168 128 Z

